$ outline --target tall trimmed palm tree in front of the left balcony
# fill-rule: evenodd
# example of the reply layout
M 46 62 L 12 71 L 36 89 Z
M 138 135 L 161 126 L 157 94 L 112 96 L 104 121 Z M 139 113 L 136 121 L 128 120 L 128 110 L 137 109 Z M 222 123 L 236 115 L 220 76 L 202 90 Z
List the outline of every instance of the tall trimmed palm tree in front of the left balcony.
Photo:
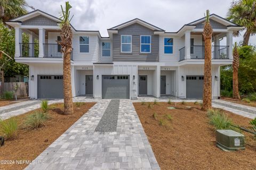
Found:
M 72 6 L 66 2 L 66 8 L 63 10 L 61 5 L 61 41 L 57 41 L 61 45 L 61 52 L 63 54 L 63 95 L 64 95 L 64 114 L 73 113 L 73 99 L 71 90 L 71 69 L 70 69 L 70 56 L 72 51 L 72 30 L 70 27 L 70 8 Z

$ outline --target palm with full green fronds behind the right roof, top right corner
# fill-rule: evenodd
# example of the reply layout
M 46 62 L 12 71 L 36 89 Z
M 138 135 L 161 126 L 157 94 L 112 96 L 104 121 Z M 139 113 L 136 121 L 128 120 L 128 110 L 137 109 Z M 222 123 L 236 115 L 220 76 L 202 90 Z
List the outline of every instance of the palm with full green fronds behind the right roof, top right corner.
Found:
M 227 19 L 245 28 L 243 46 L 248 45 L 250 36 L 256 33 L 256 0 L 234 1 L 228 10 Z M 239 35 L 239 32 L 236 33 Z

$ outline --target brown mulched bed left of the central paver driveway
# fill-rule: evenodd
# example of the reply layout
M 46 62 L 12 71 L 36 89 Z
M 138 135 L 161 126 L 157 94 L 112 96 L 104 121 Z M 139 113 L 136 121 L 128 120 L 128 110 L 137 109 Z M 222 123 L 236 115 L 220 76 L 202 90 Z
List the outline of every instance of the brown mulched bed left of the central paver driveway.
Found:
M 53 104 L 49 111 L 51 119 L 44 127 L 28 131 L 20 128 L 18 138 L 13 141 L 5 141 L 0 147 L 0 160 L 34 160 L 53 141 L 60 137 L 71 125 L 84 115 L 95 103 L 74 104 L 74 114 L 62 115 L 63 104 Z M 36 109 L 39 110 L 39 109 Z M 19 124 L 22 125 L 24 118 L 34 111 L 17 116 Z M 28 164 L 0 165 L 0 169 L 23 169 Z

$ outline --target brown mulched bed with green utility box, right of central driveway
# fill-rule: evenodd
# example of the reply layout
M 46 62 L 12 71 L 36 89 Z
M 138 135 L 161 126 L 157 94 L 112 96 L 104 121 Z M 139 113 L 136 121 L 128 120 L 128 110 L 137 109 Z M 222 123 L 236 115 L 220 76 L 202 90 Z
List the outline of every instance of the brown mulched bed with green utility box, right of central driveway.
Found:
M 256 142 L 246 136 L 246 149 L 225 152 L 215 146 L 215 133 L 200 105 L 158 103 L 133 104 L 161 169 L 255 169 Z M 186 106 L 190 106 L 188 108 Z M 224 111 L 223 111 L 224 112 Z M 170 114 L 171 126 L 160 126 L 153 114 Z M 235 124 L 249 126 L 249 118 L 226 112 Z

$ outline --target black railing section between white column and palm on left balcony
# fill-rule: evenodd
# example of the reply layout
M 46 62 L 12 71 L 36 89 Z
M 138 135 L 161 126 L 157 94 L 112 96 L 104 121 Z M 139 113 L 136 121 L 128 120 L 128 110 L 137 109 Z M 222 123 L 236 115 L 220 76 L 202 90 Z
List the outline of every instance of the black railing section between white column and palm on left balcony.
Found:
M 43 44 L 44 57 L 62 58 L 61 46 L 58 44 Z

